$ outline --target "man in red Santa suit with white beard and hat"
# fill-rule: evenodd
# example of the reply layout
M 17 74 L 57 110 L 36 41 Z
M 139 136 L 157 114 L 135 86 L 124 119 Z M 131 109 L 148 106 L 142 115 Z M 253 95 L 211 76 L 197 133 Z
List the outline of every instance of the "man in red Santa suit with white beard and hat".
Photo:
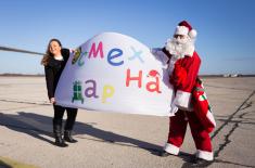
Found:
M 161 156 L 178 155 L 184 140 L 187 125 L 190 125 L 191 133 L 195 142 L 195 164 L 212 163 L 214 159 L 209 133 L 203 128 L 194 113 L 191 102 L 201 59 L 195 52 L 195 29 L 182 21 L 178 24 L 174 37 L 165 47 L 154 54 L 165 55 L 168 59 L 169 82 L 175 90 L 171 112 L 175 115 L 169 118 L 169 134 Z

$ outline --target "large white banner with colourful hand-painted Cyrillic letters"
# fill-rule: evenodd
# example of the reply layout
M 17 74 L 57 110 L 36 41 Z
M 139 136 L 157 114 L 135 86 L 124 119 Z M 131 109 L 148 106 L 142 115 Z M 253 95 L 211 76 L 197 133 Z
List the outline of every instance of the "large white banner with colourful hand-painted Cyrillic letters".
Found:
M 62 106 L 169 116 L 173 88 L 166 66 L 138 40 L 103 33 L 71 55 L 55 99 Z

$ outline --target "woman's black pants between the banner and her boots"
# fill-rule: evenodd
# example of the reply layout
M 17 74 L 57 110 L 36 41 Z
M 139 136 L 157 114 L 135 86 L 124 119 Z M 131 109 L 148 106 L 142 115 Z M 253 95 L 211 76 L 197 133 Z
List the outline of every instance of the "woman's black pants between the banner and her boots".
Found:
M 69 130 L 69 131 L 73 130 L 78 109 L 71 108 L 71 107 L 63 107 L 59 105 L 53 105 L 53 108 L 54 108 L 53 126 L 62 127 L 63 116 L 66 111 L 67 119 L 65 122 L 65 130 Z

